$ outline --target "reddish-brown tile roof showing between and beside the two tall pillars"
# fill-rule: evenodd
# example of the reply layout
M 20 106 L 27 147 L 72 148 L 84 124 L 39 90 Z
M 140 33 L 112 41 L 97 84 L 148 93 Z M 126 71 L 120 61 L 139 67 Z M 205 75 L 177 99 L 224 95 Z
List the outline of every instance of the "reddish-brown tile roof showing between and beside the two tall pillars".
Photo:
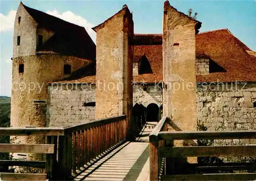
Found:
M 154 37 L 154 35 L 148 36 Z M 159 36 L 159 34 L 157 36 Z M 161 82 L 163 64 L 162 45 L 153 43 L 151 45 L 134 46 L 134 61 L 138 61 L 144 54 L 151 64 L 153 74 L 134 76 L 134 81 L 145 83 Z M 228 29 L 197 34 L 196 56 L 209 57 L 227 71 L 197 75 L 197 82 L 256 81 L 256 57 L 254 52 L 237 37 L 232 35 Z M 84 77 L 77 81 L 92 82 L 96 81 L 96 77 Z

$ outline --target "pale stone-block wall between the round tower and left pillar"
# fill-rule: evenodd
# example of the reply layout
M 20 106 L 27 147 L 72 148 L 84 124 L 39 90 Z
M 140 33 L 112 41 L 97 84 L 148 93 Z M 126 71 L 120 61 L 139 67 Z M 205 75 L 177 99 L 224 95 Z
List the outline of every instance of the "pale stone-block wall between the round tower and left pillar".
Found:
M 95 84 L 56 83 L 48 85 L 47 126 L 65 127 L 95 119 Z

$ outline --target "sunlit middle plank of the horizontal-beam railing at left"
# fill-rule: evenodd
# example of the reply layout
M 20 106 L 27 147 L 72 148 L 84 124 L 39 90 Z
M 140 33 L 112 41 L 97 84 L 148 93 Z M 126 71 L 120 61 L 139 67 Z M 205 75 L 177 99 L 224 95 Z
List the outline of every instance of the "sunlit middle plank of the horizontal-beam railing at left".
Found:
M 54 153 L 51 144 L 0 144 L 0 152 L 7 153 Z

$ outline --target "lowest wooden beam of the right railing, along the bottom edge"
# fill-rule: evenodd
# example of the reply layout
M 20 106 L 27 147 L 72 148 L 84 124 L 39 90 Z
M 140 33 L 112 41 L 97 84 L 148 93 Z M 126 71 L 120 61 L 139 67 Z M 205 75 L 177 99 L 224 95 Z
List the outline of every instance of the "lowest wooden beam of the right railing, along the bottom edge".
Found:
M 255 180 L 256 173 L 163 175 L 161 180 Z

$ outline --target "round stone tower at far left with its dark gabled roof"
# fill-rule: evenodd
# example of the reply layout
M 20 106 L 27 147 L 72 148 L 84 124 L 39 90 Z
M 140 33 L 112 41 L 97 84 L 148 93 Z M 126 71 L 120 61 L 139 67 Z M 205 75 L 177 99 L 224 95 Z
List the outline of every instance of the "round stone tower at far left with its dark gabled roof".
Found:
M 87 42 L 83 42 L 84 38 Z M 45 127 L 47 84 L 95 61 L 95 49 L 83 27 L 20 3 L 13 35 L 11 126 Z M 91 54 L 84 55 L 87 51 Z M 20 137 L 17 141 L 39 143 L 42 138 Z

